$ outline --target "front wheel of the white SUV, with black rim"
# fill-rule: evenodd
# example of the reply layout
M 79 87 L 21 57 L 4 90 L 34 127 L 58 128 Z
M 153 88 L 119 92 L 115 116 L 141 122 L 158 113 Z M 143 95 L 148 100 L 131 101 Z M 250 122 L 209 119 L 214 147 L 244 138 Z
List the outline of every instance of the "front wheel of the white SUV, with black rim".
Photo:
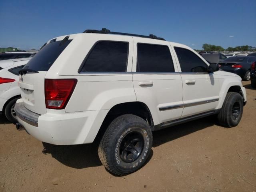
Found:
M 218 114 L 218 121 L 224 127 L 234 127 L 240 122 L 243 114 L 243 98 L 239 93 L 228 92 Z

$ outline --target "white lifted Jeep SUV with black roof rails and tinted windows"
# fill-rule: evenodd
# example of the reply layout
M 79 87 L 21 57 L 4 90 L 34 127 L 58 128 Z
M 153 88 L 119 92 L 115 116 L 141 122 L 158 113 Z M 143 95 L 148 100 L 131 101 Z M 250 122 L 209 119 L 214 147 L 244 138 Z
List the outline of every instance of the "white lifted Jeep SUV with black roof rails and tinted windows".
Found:
M 213 114 L 233 127 L 246 103 L 239 76 L 154 35 L 102 29 L 60 36 L 20 74 L 15 111 L 26 131 L 56 145 L 102 135 L 100 160 L 116 175 L 146 162 L 152 131 Z

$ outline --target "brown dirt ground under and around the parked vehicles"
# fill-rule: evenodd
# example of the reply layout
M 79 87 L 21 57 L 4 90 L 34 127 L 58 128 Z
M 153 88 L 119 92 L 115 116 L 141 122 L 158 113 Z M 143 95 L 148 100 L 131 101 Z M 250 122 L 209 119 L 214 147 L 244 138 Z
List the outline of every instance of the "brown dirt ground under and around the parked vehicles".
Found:
M 105 170 L 96 143 L 44 144 L 1 117 L 0 192 L 256 191 L 256 90 L 244 86 L 237 127 L 207 117 L 154 132 L 149 162 L 124 177 Z

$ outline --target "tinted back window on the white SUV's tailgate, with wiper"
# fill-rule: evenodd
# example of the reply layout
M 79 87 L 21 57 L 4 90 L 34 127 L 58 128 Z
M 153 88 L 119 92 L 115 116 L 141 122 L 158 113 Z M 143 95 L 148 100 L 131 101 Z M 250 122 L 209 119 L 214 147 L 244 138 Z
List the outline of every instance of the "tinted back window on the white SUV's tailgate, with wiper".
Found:
M 24 67 L 36 71 L 48 71 L 54 61 L 72 40 L 54 41 L 44 46 Z M 62 42 L 62 43 L 60 43 Z

